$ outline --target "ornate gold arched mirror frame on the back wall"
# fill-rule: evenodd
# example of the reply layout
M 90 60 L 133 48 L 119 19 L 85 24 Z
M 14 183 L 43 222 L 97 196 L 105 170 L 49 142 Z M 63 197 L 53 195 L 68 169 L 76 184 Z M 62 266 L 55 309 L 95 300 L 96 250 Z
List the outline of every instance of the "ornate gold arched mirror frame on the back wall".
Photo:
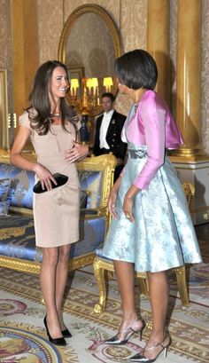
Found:
M 120 34 L 118 29 L 116 28 L 116 25 L 114 23 L 114 21 L 112 20 L 111 16 L 104 11 L 104 9 L 101 6 L 95 5 L 95 4 L 85 4 L 85 5 L 81 5 L 78 8 L 76 8 L 74 10 L 74 12 L 72 12 L 68 19 L 66 20 L 65 26 L 62 30 L 61 36 L 60 36 L 60 40 L 59 40 L 59 45 L 58 45 L 58 59 L 67 64 L 67 59 L 66 59 L 66 42 L 68 39 L 68 36 L 72 30 L 72 28 L 74 27 L 74 23 L 76 22 L 76 20 L 78 20 L 79 17 L 81 17 L 81 15 L 86 14 L 86 13 L 94 13 L 97 14 L 99 17 L 101 17 L 102 20 L 104 20 L 105 25 L 107 26 L 110 35 L 112 36 L 112 43 L 113 43 L 113 47 L 114 47 L 114 59 L 120 57 L 121 55 L 121 43 L 120 43 Z M 108 56 L 108 55 L 107 55 Z M 114 77 L 114 75 L 112 75 L 113 78 L 113 86 L 112 86 L 112 93 L 114 95 L 116 95 L 117 93 L 117 84 L 116 84 L 116 79 Z M 100 107 L 99 110 L 97 110 L 97 114 L 102 112 L 102 107 Z M 96 115 L 96 114 L 91 114 L 91 115 Z

